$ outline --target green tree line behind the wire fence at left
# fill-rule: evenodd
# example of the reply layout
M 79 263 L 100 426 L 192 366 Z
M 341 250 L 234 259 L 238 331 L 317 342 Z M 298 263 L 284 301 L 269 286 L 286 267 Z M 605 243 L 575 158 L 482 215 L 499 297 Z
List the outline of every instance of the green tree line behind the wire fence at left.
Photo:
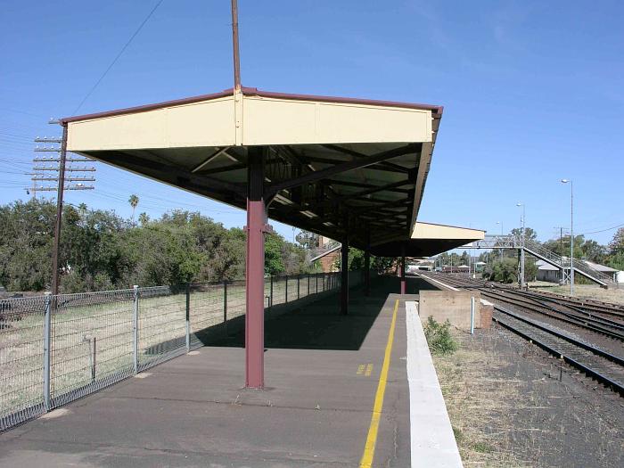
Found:
M 135 206 L 133 206 L 133 209 Z M 0 285 L 44 291 L 52 277 L 53 201 L 0 206 Z M 121 218 L 112 210 L 63 207 L 61 291 L 105 291 L 160 284 L 244 278 L 245 233 L 197 212 L 174 210 L 158 219 Z M 314 269 L 307 250 L 279 234 L 265 238 L 267 275 Z

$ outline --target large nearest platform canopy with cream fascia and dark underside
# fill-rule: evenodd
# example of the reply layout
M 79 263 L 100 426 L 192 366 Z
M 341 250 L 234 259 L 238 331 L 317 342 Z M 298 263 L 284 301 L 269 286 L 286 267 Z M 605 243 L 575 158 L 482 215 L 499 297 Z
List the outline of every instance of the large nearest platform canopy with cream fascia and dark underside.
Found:
M 242 87 L 62 124 L 70 152 L 241 209 L 250 152 L 262 152 L 269 218 L 364 249 L 414 239 L 441 115 Z

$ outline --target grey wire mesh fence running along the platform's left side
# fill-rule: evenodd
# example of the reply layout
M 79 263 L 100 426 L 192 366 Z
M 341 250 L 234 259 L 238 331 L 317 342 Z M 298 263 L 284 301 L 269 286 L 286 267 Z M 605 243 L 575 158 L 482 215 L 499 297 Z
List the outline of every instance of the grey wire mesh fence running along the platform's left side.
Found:
M 267 277 L 265 306 L 340 283 L 338 273 Z M 0 300 L 0 431 L 224 336 L 242 326 L 245 303 L 244 281 Z

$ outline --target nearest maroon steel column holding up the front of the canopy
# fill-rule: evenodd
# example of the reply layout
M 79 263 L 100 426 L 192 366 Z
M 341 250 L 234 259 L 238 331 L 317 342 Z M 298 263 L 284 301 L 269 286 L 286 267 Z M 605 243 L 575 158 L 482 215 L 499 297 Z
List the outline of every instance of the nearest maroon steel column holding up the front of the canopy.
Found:
M 252 389 L 261 389 L 265 384 L 264 233 L 266 224 L 263 150 L 250 148 L 247 172 L 245 386 Z

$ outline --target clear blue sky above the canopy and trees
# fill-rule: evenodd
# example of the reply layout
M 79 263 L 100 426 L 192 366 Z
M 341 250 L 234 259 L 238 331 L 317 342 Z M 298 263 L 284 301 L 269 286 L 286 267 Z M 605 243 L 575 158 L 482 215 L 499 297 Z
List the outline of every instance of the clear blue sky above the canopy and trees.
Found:
M 158 0 L 0 1 L 0 203 L 26 199 L 32 138 L 77 111 Z M 232 86 L 228 0 L 164 0 L 78 113 Z M 445 106 L 419 219 L 546 240 L 624 225 L 624 4 L 239 0 L 242 84 Z M 152 217 L 244 212 L 97 164 L 72 203 Z M 289 226 L 273 223 L 291 238 Z M 587 234 L 609 242 L 612 230 Z

